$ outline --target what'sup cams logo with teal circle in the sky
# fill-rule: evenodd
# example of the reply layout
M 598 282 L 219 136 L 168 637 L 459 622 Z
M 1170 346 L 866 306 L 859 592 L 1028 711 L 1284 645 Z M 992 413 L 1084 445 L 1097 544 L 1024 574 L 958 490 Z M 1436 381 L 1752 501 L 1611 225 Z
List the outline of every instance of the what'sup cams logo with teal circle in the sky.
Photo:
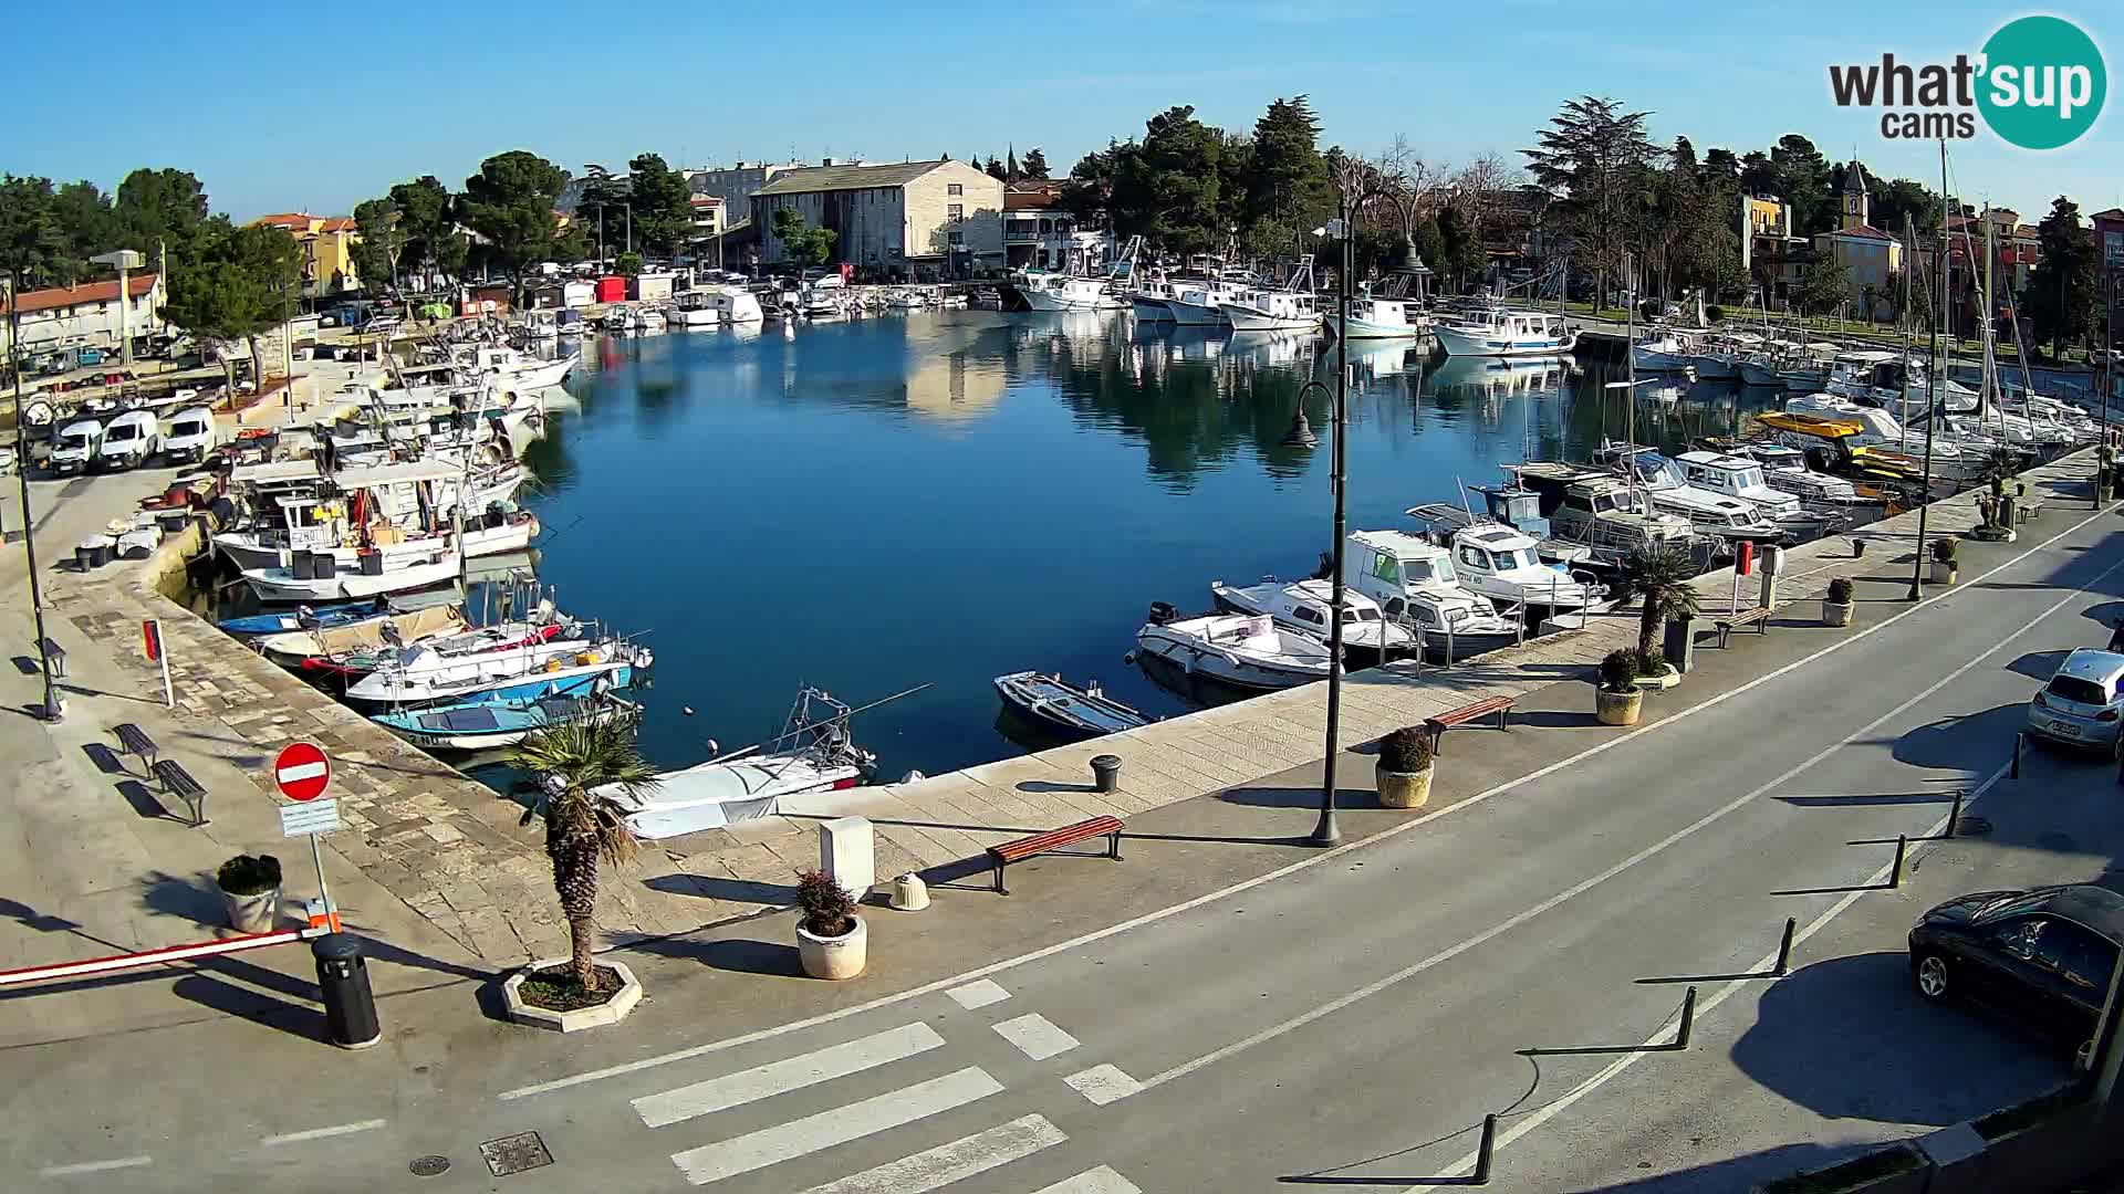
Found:
M 2109 70 L 2094 38 L 2062 17 L 2020 17 L 1999 25 L 1975 55 L 1912 64 L 1829 68 L 1839 108 L 1880 108 L 1880 134 L 1895 140 L 1967 140 L 1977 117 L 2007 144 L 2060 149 L 2101 117 Z

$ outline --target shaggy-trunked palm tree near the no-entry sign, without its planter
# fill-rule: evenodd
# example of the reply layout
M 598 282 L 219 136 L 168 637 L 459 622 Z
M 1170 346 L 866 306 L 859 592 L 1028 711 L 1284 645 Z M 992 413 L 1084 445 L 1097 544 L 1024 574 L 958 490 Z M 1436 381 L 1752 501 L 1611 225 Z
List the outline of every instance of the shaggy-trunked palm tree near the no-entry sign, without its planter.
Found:
M 510 756 L 514 767 L 546 778 L 559 792 L 525 809 L 523 824 L 546 814 L 546 858 L 552 890 L 567 918 L 569 971 L 582 990 L 597 990 L 597 867 L 633 858 L 635 835 L 627 807 L 597 788 L 618 786 L 635 797 L 656 786 L 656 769 L 635 752 L 633 724 L 588 720 L 527 737 Z

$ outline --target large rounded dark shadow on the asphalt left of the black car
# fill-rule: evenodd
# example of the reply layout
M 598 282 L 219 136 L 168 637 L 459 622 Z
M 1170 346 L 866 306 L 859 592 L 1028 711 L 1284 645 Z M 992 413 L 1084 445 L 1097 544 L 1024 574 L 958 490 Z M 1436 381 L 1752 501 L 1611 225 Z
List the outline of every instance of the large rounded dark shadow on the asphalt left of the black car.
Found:
M 1918 999 L 1901 952 L 1793 971 L 1733 1043 L 1742 1073 L 1818 1115 L 1933 1126 L 2067 1077 L 2052 1054 L 2003 1022 Z

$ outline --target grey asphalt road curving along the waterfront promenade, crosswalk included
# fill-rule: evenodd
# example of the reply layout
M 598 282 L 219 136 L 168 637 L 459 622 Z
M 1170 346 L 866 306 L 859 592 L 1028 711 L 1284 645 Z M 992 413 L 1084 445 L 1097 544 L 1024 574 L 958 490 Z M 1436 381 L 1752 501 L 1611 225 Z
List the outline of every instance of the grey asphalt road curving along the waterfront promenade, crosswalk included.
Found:
M 2124 593 L 2116 525 L 1916 610 L 1886 601 L 1897 584 L 1863 586 L 1880 601 L 1829 654 L 1682 695 L 1686 714 L 1412 831 L 986 979 L 724 1047 L 701 1033 L 684 1056 L 582 1081 L 554 1084 L 569 1071 L 548 1050 L 393 1077 L 374 1107 L 289 1090 L 240 1149 L 212 1101 L 240 1079 L 200 1043 L 217 1077 L 183 1115 L 123 1092 L 104 1122 L 15 1101 L 11 1115 L 53 1120 L 15 1156 L 45 1158 L 30 1173 L 110 1166 L 42 1173 L 81 1190 L 412 1188 L 406 1162 L 440 1141 L 457 1164 L 423 1190 L 1408 1190 L 1463 1173 L 1497 1111 L 1500 1190 L 1742 1188 L 2062 1077 L 1988 1022 L 1918 1007 L 1897 950 L 1956 888 L 2109 865 L 2124 826 L 2107 767 L 2041 756 L 2018 784 L 1994 775 L 2031 676 L 2107 637 L 2090 614 Z M 1480 750 L 1476 733 L 1442 765 Z M 1922 848 L 1909 888 L 1867 890 L 1886 841 L 1933 833 L 1956 786 L 1982 788 L 1997 833 Z M 1801 967 L 1735 979 L 1786 916 L 1805 926 Z M 1644 1052 L 1672 1037 L 1684 986 L 1644 979 L 1678 977 L 1703 996 L 1695 1047 Z M 113 1056 L 85 1045 L 53 1077 Z M 495 1186 L 463 1154 L 520 1130 L 559 1164 Z

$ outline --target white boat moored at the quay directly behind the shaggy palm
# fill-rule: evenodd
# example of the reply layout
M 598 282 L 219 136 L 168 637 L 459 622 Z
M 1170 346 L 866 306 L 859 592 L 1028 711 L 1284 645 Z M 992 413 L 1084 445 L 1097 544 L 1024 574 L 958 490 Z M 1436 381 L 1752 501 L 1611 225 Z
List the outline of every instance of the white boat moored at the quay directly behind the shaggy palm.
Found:
M 824 716 L 813 707 L 824 707 Z M 769 741 L 665 771 L 635 790 L 612 784 L 593 792 L 627 809 L 627 829 L 650 841 L 758 820 L 784 799 L 869 780 L 877 756 L 850 737 L 854 712 L 828 693 L 805 688 L 782 733 Z

